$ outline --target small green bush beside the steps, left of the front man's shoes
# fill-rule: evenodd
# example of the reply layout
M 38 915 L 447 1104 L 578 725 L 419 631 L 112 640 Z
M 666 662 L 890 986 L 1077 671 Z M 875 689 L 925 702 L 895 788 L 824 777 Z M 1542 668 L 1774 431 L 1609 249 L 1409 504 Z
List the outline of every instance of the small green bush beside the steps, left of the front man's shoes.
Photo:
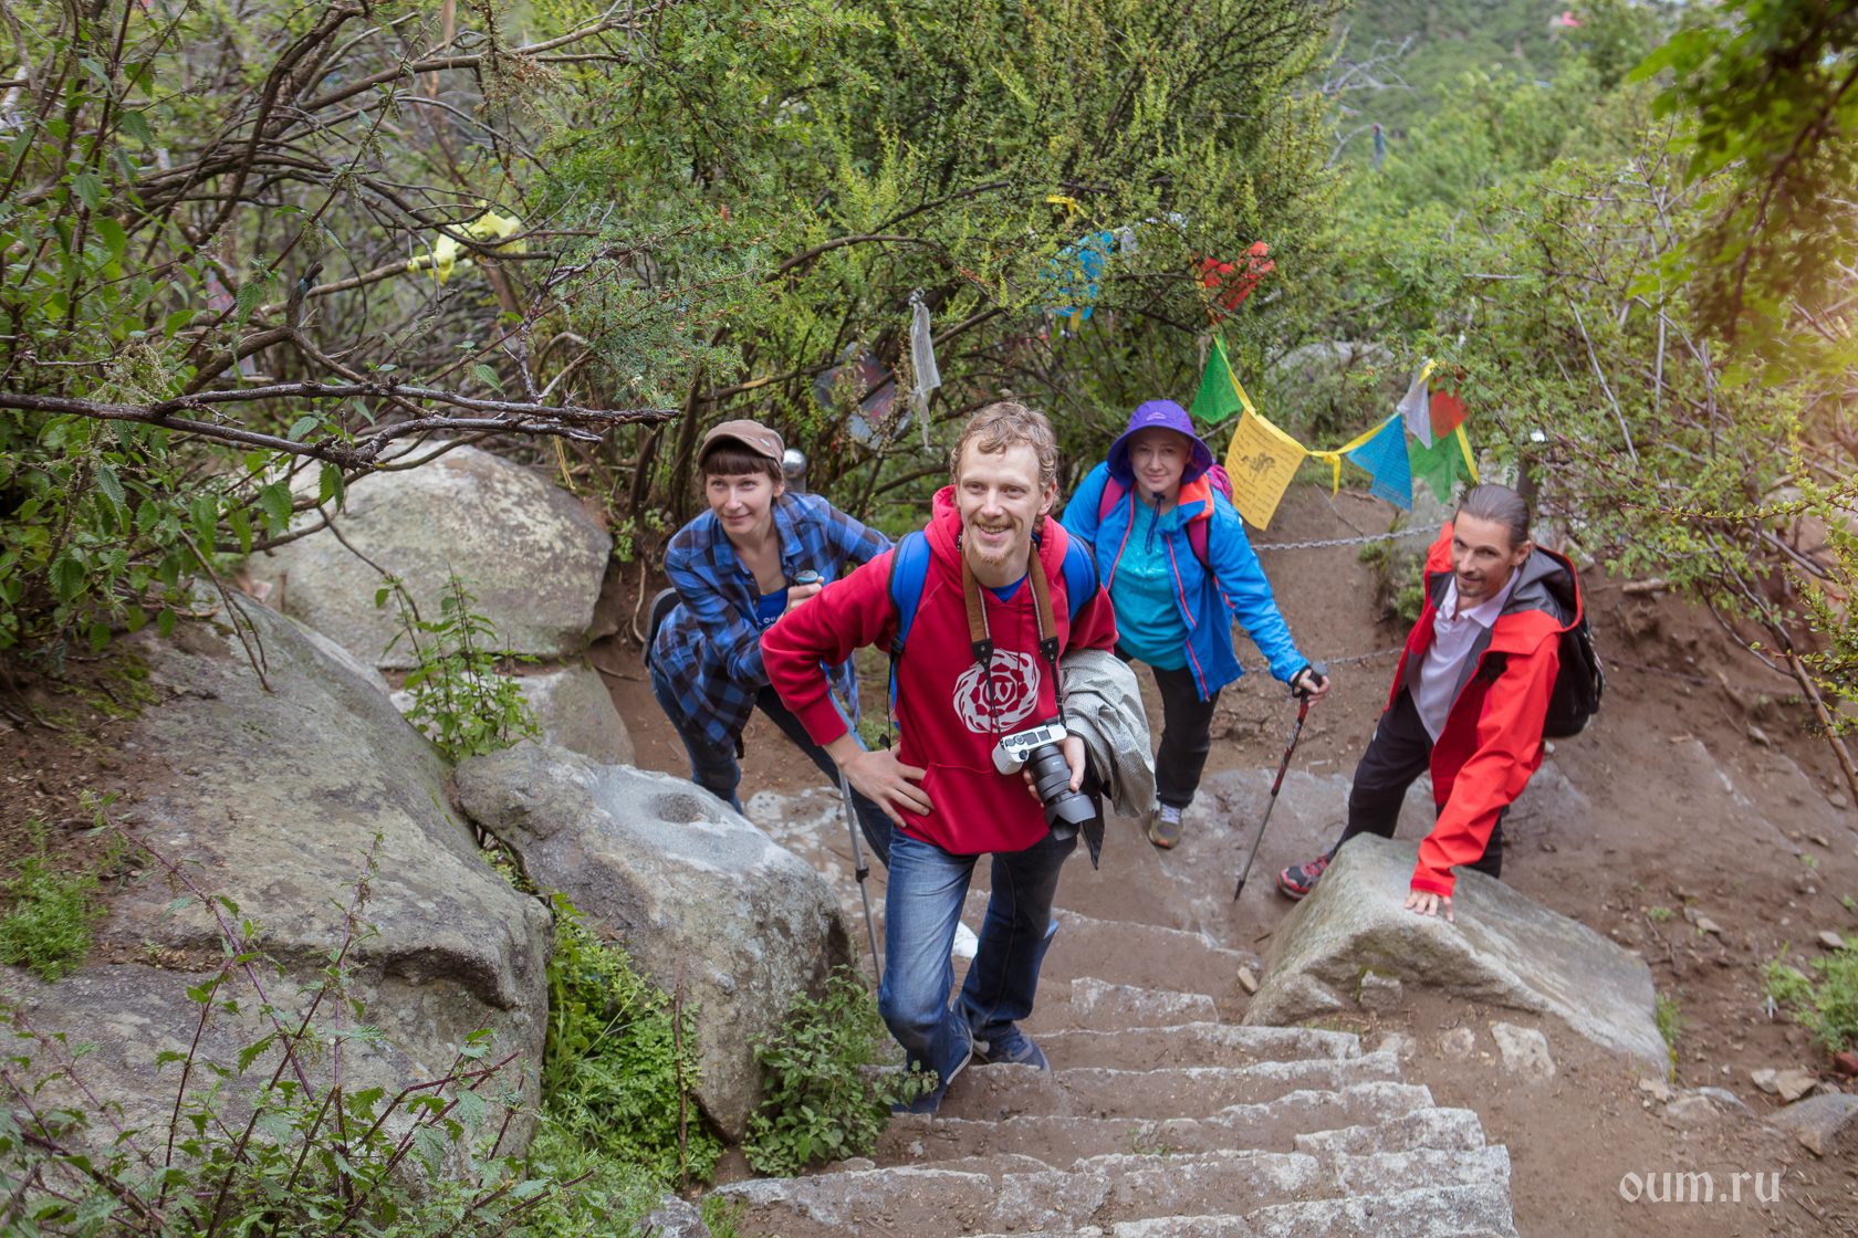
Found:
M 825 995 L 793 999 L 788 1023 L 754 1047 L 764 1069 L 762 1112 L 741 1151 L 756 1173 L 799 1173 L 806 1164 L 866 1156 L 890 1125 L 890 1106 L 935 1086 L 935 1073 L 892 1075 L 890 1032 L 864 978 L 840 967 Z

